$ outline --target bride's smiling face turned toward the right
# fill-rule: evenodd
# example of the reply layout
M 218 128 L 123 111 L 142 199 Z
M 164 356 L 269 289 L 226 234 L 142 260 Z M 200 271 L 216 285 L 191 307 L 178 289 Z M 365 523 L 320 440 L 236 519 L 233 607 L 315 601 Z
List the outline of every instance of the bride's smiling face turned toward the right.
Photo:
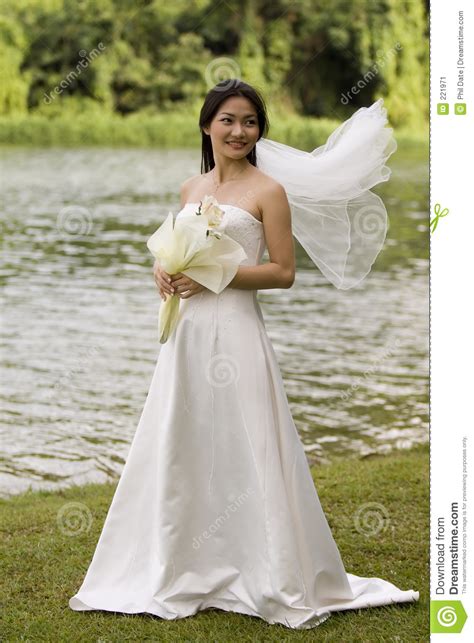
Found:
M 244 158 L 258 140 L 257 111 L 247 98 L 231 96 L 219 106 L 210 127 L 203 129 L 211 136 L 214 155 Z

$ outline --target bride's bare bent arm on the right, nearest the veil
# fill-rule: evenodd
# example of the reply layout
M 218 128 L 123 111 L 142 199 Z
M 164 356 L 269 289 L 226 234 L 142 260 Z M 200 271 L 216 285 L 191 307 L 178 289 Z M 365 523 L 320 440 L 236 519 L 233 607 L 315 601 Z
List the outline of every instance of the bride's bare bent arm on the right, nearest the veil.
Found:
M 243 290 L 291 288 L 295 280 L 295 247 L 288 197 L 283 186 L 276 182 L 259 197 L 270 261 L 258 266 L 239 266 L 228 287 Z

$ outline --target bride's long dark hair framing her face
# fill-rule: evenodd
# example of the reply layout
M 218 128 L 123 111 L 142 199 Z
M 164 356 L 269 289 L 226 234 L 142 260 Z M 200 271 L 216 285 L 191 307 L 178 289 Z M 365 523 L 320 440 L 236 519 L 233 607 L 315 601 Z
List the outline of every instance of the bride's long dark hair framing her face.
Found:
M 267 135 L 270 127 L 265 101 L 257 89 L 238 78 L 229 78 L 217 83 L 217 85 L 206 94 L 204 104 L 201 107 L 201 113 L 199 114 L 199 129 L 201 130 L 202 136 L 201 174 L 209 172 L 215 166 L 211 137 L 204 132 L 203 128 L 210 126 L 219 106 L 230 96 L 243 96 L 253 104 L 257 112 L 259 139 Z M 257 166 L 255 145 L 247 154 L 246 158 L 252 165 Z

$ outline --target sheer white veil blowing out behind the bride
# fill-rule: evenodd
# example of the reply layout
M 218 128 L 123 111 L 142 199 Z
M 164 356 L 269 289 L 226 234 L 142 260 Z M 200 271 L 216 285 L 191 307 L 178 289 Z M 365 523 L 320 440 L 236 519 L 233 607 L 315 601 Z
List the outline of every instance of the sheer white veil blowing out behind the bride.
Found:
M 285 188 L 293 234 L 336 288 L 347 290 L 370 272 L 388 229 L 387 210 L 370 188 L 387 181 L 397 149 L 380 98 L 362 107 L 304 152 L 270 139 L 256 144 L 257 167 Z

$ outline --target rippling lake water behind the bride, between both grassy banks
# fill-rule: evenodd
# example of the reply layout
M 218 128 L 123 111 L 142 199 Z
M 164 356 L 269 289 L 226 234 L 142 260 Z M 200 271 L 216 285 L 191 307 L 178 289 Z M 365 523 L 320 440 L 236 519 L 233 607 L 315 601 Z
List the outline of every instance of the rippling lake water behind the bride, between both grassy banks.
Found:
M 157 355 L 145 243 L 199 151 L 1 155 L 0 495 L 116 479 Z M 337 290 L 296 244 L 293 287 L 258 293 L 311 464 L 428 440 L 427 148 L 389 165 L 387 240 L 360 286 Z

